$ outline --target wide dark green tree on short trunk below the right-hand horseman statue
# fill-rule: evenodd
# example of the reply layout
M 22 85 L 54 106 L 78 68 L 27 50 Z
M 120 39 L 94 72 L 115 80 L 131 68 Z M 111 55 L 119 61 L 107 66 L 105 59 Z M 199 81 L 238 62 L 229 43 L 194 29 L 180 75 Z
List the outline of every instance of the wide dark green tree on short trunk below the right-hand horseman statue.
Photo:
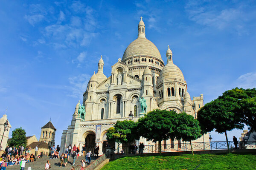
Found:
M 138 134 L 153 142 L 159 143 L 161 155 L 161 141 L 174 139 L 175 121 L 177 113 L 174 111 L 154 110 L 145 114 L 138 121 Z

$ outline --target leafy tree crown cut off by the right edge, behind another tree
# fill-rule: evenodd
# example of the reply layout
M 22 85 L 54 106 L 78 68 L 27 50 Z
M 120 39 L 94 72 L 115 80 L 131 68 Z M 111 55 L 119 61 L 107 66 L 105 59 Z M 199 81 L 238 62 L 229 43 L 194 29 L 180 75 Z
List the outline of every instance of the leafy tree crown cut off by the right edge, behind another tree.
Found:
M 219 99 L 235 101 L 239 105 L 236 112 L 241 117 L 241 122 L 251 130 L 256 130 L 256 88 L 233 88 L 225 91 Z

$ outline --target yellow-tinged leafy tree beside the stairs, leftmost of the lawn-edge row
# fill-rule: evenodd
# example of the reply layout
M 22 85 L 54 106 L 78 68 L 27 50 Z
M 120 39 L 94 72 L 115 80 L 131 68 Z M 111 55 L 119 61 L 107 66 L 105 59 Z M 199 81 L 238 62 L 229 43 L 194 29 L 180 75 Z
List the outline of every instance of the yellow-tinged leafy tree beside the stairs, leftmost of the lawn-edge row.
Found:
M 130 120 L 116 121 L 114 127 L 110 127 L 107 131 L 107 140 L 120 143 L 132 142 L 139 138 L 136 133 L 137 123 Z M 126 147 L 128 154 L 128 147 Z

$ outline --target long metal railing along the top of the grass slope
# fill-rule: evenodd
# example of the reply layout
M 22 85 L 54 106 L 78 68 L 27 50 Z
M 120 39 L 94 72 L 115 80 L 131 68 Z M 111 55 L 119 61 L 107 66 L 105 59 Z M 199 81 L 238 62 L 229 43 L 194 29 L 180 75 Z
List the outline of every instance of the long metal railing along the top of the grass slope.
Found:
M 225 150 L 227 149 L 226 141 L 216 141 L 216 142 L 192 142 L 192 148 L 194 151 L 197 150 Z M 228 142 L 230 149 L 236 149 L 233 141 Z M 239 141 L 237 145 L 238 149 L 256 149 L 256 141 Z M 121 153 L 121 150 L 126 150 L 125 147 L 119 147 L 115 150 L 115 153 Z M 132 146 L 128 149 L 129 153 L 135 150 L 132 150 Z M 177 152 L 177 151 L 191 151 L 191 146 L 189 142 L 183 142 L 179 144 L 161 144 L 162 152 Z M 139 153 L 139 146 L 137 146 L 137 150 L 135 153 Z M 145 145 L 143 149 L 143 153 L 159 153 L 159 145 Z

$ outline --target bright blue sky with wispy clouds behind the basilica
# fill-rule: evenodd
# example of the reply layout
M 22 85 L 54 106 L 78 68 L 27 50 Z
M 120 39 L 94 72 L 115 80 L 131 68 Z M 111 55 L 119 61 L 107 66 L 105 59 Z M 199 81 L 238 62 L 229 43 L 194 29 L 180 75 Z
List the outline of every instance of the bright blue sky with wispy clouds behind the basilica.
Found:
M 2 0 L 0 113 L 8 106 L 11 130 L 21 126 L 39 139 L 51 118 L 60 144 L 100 56 L 108 77 L 137 38 L 140 16 L 165 63 L 170 45 L 191 96 L 204 94 L 207 103 L 230 88 L 256 86 L 254 0 Z

